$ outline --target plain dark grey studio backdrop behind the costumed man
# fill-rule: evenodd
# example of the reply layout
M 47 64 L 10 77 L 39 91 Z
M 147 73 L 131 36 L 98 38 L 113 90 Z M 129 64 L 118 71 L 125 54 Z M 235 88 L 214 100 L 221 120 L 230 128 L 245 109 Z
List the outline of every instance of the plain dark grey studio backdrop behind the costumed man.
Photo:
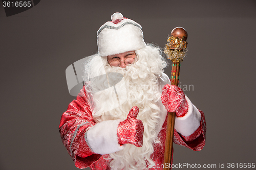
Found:
M 48 0 L 6 17 L 1 6 L 0 169 L 77 169 L 58 132 L 75 99 L 65 70 L 97 52 L 96 32 L 114 12 L 140 23 L 145 41 L 160 47 L 173 28 L 188 32 L 180 80 L 194 86 L 184 92 L 205 113 L 206 145 L 200 152 L 175 145 L 173 163 L 256 162 L 255 7 L 255 1 Z

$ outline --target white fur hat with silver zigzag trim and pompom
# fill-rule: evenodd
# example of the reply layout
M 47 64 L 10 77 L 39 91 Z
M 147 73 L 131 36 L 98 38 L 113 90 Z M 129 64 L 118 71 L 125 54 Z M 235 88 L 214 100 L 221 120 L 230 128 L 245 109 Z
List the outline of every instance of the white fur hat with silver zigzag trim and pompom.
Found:
M 112 21 L 102 25 L 97 32 L 97 44 L 100 56 L 139 50 L 146 46 L 141 26 L 119 12 L 111 16 Z

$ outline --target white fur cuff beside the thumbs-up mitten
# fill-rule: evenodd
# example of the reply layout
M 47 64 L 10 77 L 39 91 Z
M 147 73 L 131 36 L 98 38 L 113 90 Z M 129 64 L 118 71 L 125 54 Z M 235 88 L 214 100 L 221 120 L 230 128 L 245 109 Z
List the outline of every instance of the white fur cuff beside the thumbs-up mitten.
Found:
M 104 155 L 121 151 L 117 140 L 117 127 L 121 119 L 100 122 L 87 131 L 87 142 L 92 151 Z

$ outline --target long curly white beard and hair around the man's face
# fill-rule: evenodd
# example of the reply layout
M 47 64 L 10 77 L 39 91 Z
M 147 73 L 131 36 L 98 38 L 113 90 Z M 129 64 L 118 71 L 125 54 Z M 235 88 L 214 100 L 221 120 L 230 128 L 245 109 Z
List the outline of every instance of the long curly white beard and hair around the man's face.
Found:
M 138 148 L 132 144 L 125 144 L 123 150 L 110 154 L 109 158 L 104 157 L 111 160 L 112 169 L 146 169 L 148 164 L 155 164 L 152 160 L 153 144 L 159 142 L 158 130 L 162 126 L 159 108 L 161 92 L 156 75 L 161 75 L 166 62 L 162 61 L 158 48 L 152 46 L 146 46 L 136 51 L 136 54 L 136 63 L 126 68 L 111 68 L 106 58 L 96 57 L 84 72 L 89 78 L 105 73 L 108 75 L 109 72 L 119 72 L 123 75 L 122 83 L 119 87 L 116 85 L 115 91 L 113 87 L 110 90 L 109 80 L 90 80 L 87 91 L 92 92 L 92 114 L 96 123 L 104 120 L 124 120 L 133 106 L 139 108 L 137 118 L 142 120 L 144 126 L 143 146 Z M 98 92 L 93 93 L 95 91 Z

